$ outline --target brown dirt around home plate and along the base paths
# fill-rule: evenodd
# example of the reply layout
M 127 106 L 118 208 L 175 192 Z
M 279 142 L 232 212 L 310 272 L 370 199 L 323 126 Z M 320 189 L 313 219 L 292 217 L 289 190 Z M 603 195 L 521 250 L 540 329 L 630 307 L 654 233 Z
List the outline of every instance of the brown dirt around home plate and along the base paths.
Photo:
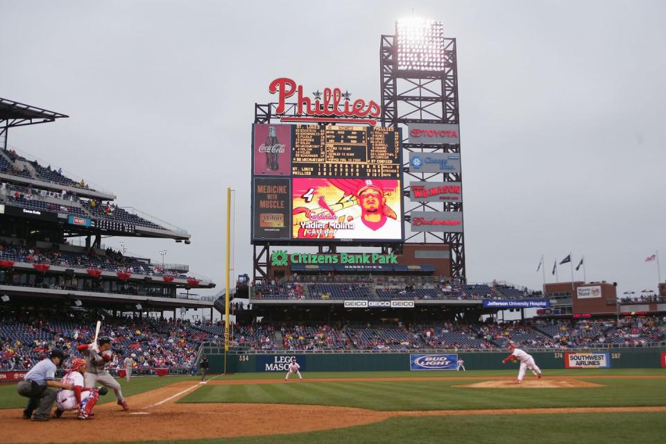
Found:
M 395 380 L 400 378 L 380 378 Z M 423 380 L 422 378 L 409 378 Z M 428 378 L 432 379 L 432 378 Z M 453 379 L 453 378 L 443 378 Z M 462 379 L 462 378 L 461 378 Z M 481 379 L 481 378 L 465 378 Z M 484 378 L 488 381 L 488 378 Z M 331 379 L 341 382 L 349 379 Z M 368 381 L 371 379 L 359 379 Z M 572 379 L 567 378 L 569 382 Z M 504 384 L 504 379 L 498 379 Z M 209 384 L 219 384 L 211 381 Z M 248 381 L 265 384 L 278 381 Z M 282 381 L 283 382 L 283 381 Z M 509 382 L 509 381 L 506 381 Z M 225 381 L 223 383 L 234 383 Z M 283 382 L 290 384 L 291 382 Z M 294 382 L 298 384 L 298 382 Z M 49 422 L 21 418 L 21 409 L 0 410 L 3 443 L 95 443 L 101 441 L 160 441 L 174 439 L 227 438 L 233 436 L 291 434 L 336 429 L 409 416 L 513 415 L 536 413 L 666 412 L 665 407 L 606 407 L 554 409 L 492 409 L 435 411 L 373 411 L 349 407 L 292 404 L 176 404 L 200 386 L 177 382 L 127 399 L 130 411 L 110 402 L 95 408 L 94 420 L 76 420 L 74 414 Z M 518 386 L 518 384 L 516 384 Z M 521 384 L 522 386 L 522 384 Z M 111 395 L 111 393 L 109 393 Z M 317 418 L 317 420 L 312 420 Z

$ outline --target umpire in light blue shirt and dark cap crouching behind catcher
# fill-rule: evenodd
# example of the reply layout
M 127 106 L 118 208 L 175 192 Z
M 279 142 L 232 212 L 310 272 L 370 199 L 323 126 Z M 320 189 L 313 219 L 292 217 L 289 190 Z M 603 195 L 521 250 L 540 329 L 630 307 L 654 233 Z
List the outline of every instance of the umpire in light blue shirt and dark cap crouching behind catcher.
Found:
M 23 419 L 33 421 L 48 421 L 51 415 L 51 407 L 56 402 L 57 391 L 49 387 L 65 388 L 71 390 L 71 383 L 62 384 L 55 380 L 58 366 L 65 361 L 65 355 L 60 350 L 53 350 L 51 355 L 43 361 L 39 361 L 26 374 L 16 391 L 19 395 L 30 398 L 26 409 L 23 411 Z M 35 412 L 33 416 L 33 411 Z

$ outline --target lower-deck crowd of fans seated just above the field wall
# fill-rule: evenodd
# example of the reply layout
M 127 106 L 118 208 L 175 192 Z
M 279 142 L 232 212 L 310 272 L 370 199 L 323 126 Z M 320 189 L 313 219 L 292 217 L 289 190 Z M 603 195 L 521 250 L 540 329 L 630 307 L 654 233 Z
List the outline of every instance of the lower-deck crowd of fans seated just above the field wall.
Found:
M 0 318 L 0 370 L 26 370 L 54 348 L 78 357 L 76 346 L 89 343 L 95 320 L 87 314 L 8 316 Z M 110 370 L 132 357 L 136 373 L 155 368 L 188 373 L 200 343 L 221 343 L 223 323 L 189 323 L 155 318 L 116 318 L 103 323 L 112 339 Z M 233 325 L 230 345 L 239 350 L 493 350 L 515 343 L 528 349 L 605 348 L 611 344 L 645 347 L 666 341 L 666 316 L 615 319 L 531 320 L 524 323 L 436 325 L 305 323 Z

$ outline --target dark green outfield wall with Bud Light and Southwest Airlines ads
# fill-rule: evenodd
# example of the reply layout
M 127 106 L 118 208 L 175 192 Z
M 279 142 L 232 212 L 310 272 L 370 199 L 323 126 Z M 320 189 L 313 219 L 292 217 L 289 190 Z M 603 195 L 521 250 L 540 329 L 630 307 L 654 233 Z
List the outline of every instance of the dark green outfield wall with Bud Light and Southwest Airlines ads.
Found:
M 540 368 L 666 368 L 666 348 L 613 348 L 611 350 L 539 350 L 529 352 Z M 204 346 L 210 371 L 222 373 L 224 349 Z M 296 357 L 304 372 L 428 371 L 455 370 L 463 359 L 467 370 L 508 370 L 518 364 L 502 364 L 509 351 L 502 352 L 273 352 L 227 355 L 227 373 L 284 372 Z M 416 370 L 418 369 L 418 370 Z

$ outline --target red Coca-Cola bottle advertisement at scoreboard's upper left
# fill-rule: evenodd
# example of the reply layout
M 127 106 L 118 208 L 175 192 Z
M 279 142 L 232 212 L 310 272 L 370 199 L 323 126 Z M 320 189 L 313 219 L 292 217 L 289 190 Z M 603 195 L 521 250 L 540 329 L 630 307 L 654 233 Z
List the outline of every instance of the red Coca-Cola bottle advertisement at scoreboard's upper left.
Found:
M 253 125 L 254 169 L 256 176 L 291 174 L 291 125 Z

